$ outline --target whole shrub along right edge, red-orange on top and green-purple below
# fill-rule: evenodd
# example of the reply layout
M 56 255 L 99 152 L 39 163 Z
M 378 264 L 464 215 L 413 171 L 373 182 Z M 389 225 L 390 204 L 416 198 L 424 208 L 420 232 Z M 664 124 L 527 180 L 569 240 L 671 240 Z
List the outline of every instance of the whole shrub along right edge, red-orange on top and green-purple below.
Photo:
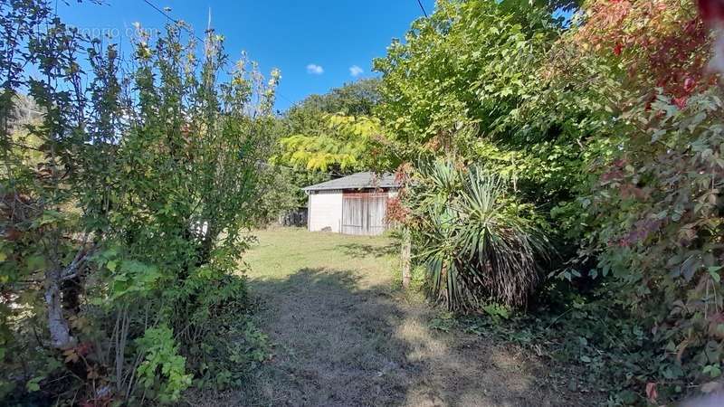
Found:
M 724 367 L 724 93 L 704 22 L 724 9 L 699 4 L 597 0 L 573 35 L 624 95 L 611 97 L 619 141 L 614 160 L 594 160 L 588 213 L 597 270 L 658 349 L 633 379 L 652 402 L 711 391 Z

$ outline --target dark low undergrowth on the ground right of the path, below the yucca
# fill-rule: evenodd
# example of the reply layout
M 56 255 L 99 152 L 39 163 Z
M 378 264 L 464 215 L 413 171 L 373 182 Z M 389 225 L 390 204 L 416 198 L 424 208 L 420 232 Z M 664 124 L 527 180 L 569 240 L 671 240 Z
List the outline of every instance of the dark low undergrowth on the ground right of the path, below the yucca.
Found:
M 624 315 L 604 300 L 579 298 L 562 310 L 546 307 L 528 314 L 513 314 L 497 304 L 480 315 L 456 317 L 443 311 L 430 327 L 519 345 L 547 360 L 550 374 L 567 383 L 568 390 L 598 393 L 605 405 L 646 405 L 641 390 L 655 392 L 649 385 L 654 377 L 673 381 L 681 372 L 651 345 L 651 333 Z M 681 398 L 688 390 L 677 385 L 673 389 L 672 394 L 656 394 L 659 401 Z

